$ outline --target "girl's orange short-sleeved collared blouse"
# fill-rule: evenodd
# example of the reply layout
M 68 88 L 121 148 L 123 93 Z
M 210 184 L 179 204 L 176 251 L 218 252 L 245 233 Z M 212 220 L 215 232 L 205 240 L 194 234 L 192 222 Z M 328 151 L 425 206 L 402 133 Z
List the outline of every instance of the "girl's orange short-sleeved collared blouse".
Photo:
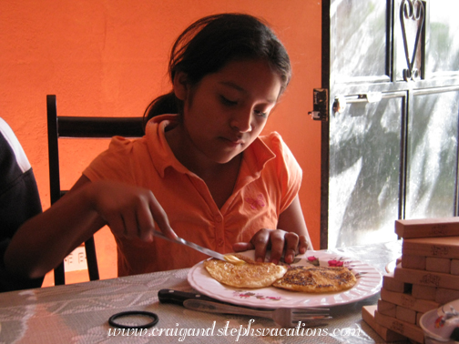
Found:
M 205 182 L 179 163 L 165 137 L 176 115 L 152 118 L 146 136 L 114 137 L 83 174 L 152 190 L 180 238 L 220 253 L 250 241 L 260 228 L 277 228 L 280 213 L 301 186 L 301 167 L 278 133 L 258 137 L 244 153 L 232 195 L 219 209 Z M 152 243 L 116 238 L 118 276 L 189 268 L 208 258 L 160 238 Z

